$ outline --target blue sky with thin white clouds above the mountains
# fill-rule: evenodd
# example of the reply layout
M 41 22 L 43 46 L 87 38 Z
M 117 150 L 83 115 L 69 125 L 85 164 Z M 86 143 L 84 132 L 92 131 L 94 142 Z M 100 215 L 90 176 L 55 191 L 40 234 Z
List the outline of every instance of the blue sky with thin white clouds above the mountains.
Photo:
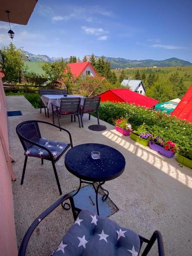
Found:
M 191 10 L 189 0 L 38 0 L 27 26 L 11 25 L 13 43 L 50 57 L 94 53 L 192 62 Z M 1 46 L 10 42 L 8 30 L 0 22 Z

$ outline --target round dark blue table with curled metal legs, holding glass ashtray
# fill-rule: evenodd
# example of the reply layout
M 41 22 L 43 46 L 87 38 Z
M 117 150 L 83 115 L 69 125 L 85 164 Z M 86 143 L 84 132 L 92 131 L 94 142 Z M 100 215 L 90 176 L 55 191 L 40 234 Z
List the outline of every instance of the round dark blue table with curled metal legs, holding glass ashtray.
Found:
M 93 159 L 91 156 L 92 151 L 99 151 L 100 159 Z M 105 181 L 113 180 L 123 173 L 125 159 L 118 150 L 111 146 L 87 143 L 77 145 L 67 152 L 65 166 L 70 173 L 80 179 L 79 188 L 73 196 L 79 192 L 82 183 L 93 185 L 96 192 L 97 214 L 99 215 L 98 190 L 101 188 L 106 191 L 107 194 L 102 197 L 102 200 L 105 201 L 109 196 L 109 191 L 102 188 L 101 185 Z M 95 182 L 98 182 L 97 188 L 95 188 Z

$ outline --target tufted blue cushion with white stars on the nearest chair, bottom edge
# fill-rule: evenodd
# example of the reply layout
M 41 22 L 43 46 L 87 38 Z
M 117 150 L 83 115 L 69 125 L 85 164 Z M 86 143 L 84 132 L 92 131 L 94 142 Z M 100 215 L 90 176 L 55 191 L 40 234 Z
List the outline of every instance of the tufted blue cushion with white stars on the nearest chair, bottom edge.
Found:
M 82 210 L 53 256 L 137 256 L 138 234 L 116 222 Z

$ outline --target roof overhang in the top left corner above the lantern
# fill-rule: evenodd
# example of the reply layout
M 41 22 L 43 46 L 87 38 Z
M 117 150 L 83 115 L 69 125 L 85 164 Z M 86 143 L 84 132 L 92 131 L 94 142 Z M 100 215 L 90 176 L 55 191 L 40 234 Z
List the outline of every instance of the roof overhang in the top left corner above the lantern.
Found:
M 10 22 L 27 25 L 38 0 L 1 0 L 0 20 L 9 22 L 6 11 L 10 11 Z

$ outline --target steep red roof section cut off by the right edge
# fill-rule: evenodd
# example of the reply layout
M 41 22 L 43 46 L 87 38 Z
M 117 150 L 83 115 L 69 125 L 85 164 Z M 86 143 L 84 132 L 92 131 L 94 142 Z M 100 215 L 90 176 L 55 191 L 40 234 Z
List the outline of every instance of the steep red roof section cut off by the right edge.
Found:
M 192 122 L 192 84 L 171 115 Z

